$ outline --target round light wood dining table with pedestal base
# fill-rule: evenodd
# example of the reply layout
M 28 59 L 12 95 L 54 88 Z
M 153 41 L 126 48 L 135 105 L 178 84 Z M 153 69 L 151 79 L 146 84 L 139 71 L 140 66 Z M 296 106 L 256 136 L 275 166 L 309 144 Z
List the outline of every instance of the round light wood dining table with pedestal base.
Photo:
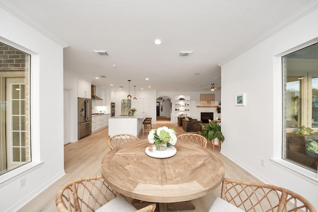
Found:
M 166 203 L 193 200 L 216 189 L 224 166 L 211 150 L 178 141 L 175 155 L 156 158 L 146 154 L 148 140 L 132 141 L 110 150 L 102 159 L 101 174 L 117 192 L 137 200 Z

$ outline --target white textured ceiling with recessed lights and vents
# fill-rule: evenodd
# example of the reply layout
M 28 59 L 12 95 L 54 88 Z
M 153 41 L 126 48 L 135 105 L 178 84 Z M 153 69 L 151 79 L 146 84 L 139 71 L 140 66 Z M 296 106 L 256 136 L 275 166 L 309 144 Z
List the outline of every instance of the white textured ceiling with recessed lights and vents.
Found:
M 67 44 L 65 70 L 119 89 L 204 91 L 218 66 L 311 0 L 1 0 Z M 21 11 L 20 11 L 21 10 Z M 288 19 L 287 19 L 288 18 Z M 25 19 L 25 21 L 28 21 Z M 33 23 L 34 25 L 34 23 Z M 161 39 L 157 46 L 155 39 Z M 92 50 L 106 50 L 97 56 Z M 187 58 L 180 51 L 193 51 Z M 113 65 L 116 65 L 115 67 Z M 196 73 L 196 74 L 194 74 Z M 106 78 L 95 79 L 105 75 Z M 149 80 L 145 80 L 148 77 Z M 151 88 L 148 88 L 151 86 Z M 205 90 L 207 91 L 207 90 Z

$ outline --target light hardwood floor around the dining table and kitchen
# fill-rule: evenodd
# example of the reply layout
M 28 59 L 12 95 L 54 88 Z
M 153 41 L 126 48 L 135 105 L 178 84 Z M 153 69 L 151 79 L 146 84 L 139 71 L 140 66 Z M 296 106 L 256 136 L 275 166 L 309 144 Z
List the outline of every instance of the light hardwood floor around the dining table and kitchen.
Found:
M 185 133 L 182 128 L 177 126 L 177 124 L 170 123 L 169 119 L 166 118 L 158 118 L 157 124 L 153 125 L 152 128 L 156 129 L 162 126 L 174 128 L 178 133 L 177 135 Z M 147 139 L 147 136 L 148 133 L 145 133 L 144 136 L 141 133 L 139 138 Z M 56 212 L 57 209 L 55 206 L 55 196 L 64 184 L 81 177 L 100 175 L 101 160 L 103 156 L 110 150 L 108 146 L 108 139 L 108 128 L 105 128 L 77 142 L 65 145 L 64 167 L 66 175 L 48 187 L 36 198 L 31 200 L 28 204 L 21 208 L 19 212 Z M 211 148 L 210 143 L 208 143 L 207 148 Z M 222 159 L 224 163 L 225 177 L 260 182 L 257 178 L 240 168 L 217 150 L 214 152 Z M 195 205 L 196 210 L 171 212 L 206 212 L 211 206 L 214 198 L 220 197 L 220 195 L 221 185 L 211 194 L 192 200 L 191 202 Z

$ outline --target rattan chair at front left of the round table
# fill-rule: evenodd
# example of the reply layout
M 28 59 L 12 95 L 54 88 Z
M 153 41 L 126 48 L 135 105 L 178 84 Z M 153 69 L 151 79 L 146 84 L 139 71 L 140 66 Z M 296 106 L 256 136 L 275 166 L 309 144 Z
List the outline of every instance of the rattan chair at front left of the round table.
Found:
M 115 198 L 120 202 L 110 202 Z M 136 211 L 133 205 L 112 189 L 101 176 L 84 177 L 67 183 L 58 192 L 55 203 L 59 212 L 95 212 L 98 209 L 105 212 L 109 210 L 101 207 L 107 203 L 112 204 L 116 211 L 122 208 L 121 211 L 125 212 L 128 209 L 133 212 L 154 212 L 156 209 L 156 204 L 151 204 Z

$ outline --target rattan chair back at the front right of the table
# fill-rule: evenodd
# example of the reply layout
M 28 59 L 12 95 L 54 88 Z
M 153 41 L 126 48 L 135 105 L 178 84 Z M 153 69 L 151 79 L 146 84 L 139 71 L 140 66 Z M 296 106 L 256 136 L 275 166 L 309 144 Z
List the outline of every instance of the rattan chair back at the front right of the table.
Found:
M 317 212 L 299 194 L 263 183 L 224 178 L 221 198 L 245 212 Z

